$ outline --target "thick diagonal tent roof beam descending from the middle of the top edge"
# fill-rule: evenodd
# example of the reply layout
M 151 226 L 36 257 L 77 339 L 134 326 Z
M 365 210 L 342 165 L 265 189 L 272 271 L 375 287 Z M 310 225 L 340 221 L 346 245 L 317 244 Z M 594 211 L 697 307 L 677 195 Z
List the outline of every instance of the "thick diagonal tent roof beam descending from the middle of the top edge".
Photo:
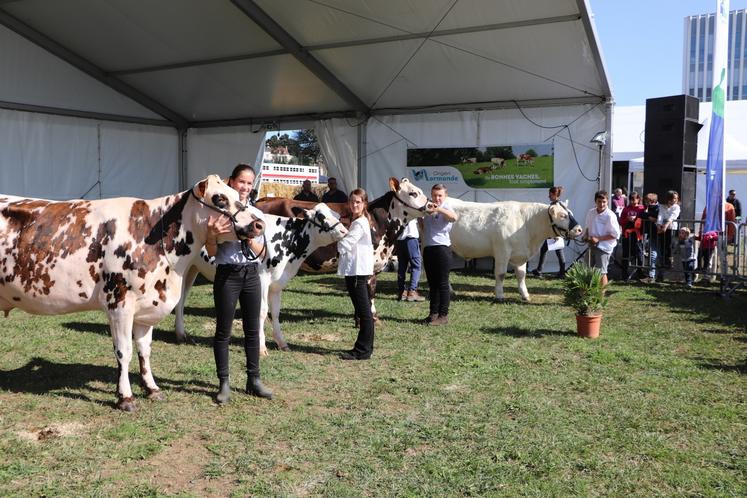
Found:
M 370 109 L 356 94 L 345 84 L 337 79 L 337 76 L 319 62 L 307 49 L 301 46 L 282 26 L 267 15 L 252 0 L 231 0 L 241 12 L 254 21 L 257 26 L 270 35 L 276 42 L 286 48 L 293 57 L 319 78 L 327 87 L 335 92 L 342 100 L 347 102 L 357 112 L 368 114 Z

